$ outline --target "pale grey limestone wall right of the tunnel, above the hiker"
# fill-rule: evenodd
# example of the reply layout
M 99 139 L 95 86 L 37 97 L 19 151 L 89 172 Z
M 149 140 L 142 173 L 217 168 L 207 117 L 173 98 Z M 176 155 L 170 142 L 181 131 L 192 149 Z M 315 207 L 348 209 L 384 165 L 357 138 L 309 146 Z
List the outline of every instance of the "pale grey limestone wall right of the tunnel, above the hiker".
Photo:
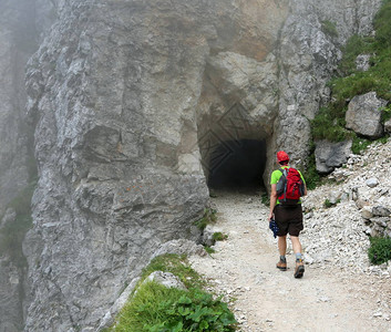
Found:
M 285 148 L 305 165 L 309 152 L 309 120 L 330 97 L 326 82 L 341 59 L 341 46 L 352 34 L 368 35 L 381 1 L 290 1 L 290 14 L 278 51 L 279 116 L 275 122 L 276 148 Z M 337 34 L 326 25 L 333 25 Z M 269 149 L 268 163 L 274 163 Z M 269 164 L 270 165 L 270 164 Z

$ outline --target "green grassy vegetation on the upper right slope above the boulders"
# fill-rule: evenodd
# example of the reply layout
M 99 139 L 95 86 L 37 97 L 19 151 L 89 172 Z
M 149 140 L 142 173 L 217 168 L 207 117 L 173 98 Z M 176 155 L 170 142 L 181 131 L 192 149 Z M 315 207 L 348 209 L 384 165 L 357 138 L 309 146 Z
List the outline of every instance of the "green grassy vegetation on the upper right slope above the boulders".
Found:
M 347 103 L 356 95 L 371 91 L 378 97 L 391 101 L 391 0 L 383 6 L 374 18 L 375 37 L 353 35 L 343 50 L 339 66 L 340 76 L 329 82 L 332 102 L 321 108 L 311 122 L 313 139 L 340 142 L 356 135 L 344 128 Z M 330 23 L 323 22 L 323 29 L 332 30 Z M 328 27 L 328 28 L 326 28 Z M 359 54 L 370 54 L 370 68 L 366 72 L 356 69 Z M 391 117 L 390 106 L 380 110 L 383 121 Z

